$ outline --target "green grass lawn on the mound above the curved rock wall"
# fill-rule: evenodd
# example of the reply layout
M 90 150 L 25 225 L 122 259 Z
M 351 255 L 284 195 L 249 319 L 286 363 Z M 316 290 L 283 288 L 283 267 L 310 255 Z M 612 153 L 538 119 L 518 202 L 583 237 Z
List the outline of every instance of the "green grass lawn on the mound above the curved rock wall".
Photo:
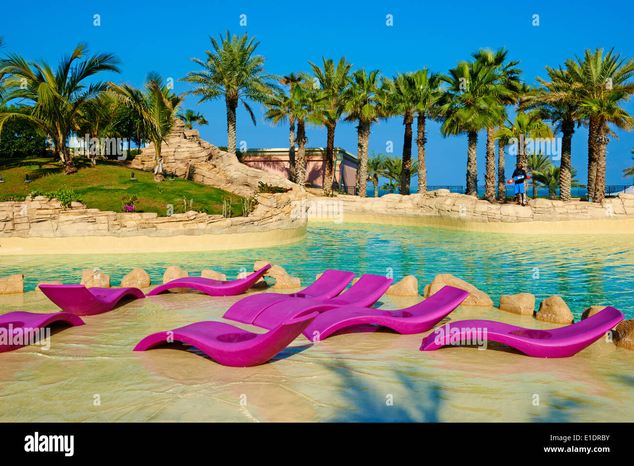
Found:
M 79 172 L 74 175 L 63 175 L 61 164 L 51 158 L 0 158 L 0 174 L 5 180 L 0 183 L 0 201 L 3 197 L 23 199 L 35 189 L 56 191 L 66 185 L 81 196 L 88 208 L 120 211 L 123 207 L 121 196 L 124 194 L 138 196 L 135 211 L 156 212 L 159 216 L 167 214 L 167 205 L 174 206 L 174 213 L 190 210 L 190 199 L 193 199 L 191 210 L 204 211 L 209 214 L 223 213 L 223 195 L 230 196 L 235 217 L 242 215 L 240 197 L 204 184 L 175 178 L 173 181 L 153 181 L 153 173 L 134 170 L 138 181 L 131 181 L 133 170 L 117 161 L 98 160 L 96 167 L 91 167 L 88 159 L 75 158 Z M 33 181 L 25 183 L 25 175 Z M 187 199 L 184 208 L 183 197 Z

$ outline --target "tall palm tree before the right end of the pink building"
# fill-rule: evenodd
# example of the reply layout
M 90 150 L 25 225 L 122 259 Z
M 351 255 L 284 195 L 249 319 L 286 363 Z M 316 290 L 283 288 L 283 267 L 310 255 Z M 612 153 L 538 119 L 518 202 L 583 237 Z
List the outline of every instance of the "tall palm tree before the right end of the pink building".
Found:
M 316 79 L 316 83 L 320 86 L 321 93 L 323 94 L 323 110 L 315 113 L 315 117 L 319 118 L 321 124 L 326 127 L 327 130 L 327 142 L 326 142 L 326 169 L 324 173 L 324 187 L 332 186 L 332 164 L 335 157 L 335 127 L 337 122 L 344 112 L 345 101 L 343 98 L 344 91 L 346 90 L 348 83 L 348 73 L 353 66 L 346 60 L 345 56 L 342 56 L 337 65 L 335 62 L 328 58 L 321 57 L 323 61 L 323 68 L 315 65 L 311 61 L 311 68 Z

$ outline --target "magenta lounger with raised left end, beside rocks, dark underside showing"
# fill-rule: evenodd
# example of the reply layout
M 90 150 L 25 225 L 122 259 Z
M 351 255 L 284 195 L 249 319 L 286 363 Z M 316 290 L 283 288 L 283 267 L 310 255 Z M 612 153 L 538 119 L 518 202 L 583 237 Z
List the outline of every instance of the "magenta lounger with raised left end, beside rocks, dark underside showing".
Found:
M 94 315 L 112 310 L 123 298 L 145 298 L 138 288 L 86 288 L 84 285 L 40 285 L 42 293 L 61 310 Z

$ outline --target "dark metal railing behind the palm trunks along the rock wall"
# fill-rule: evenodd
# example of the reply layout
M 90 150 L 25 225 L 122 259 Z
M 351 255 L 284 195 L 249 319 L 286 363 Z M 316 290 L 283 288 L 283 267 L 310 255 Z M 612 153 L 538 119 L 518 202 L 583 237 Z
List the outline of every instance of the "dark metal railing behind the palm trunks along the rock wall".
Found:
M 506 196 L 507 198 L 513 198 L 515 194 L 513 194 L 514 186 L 507 185 L 506 188 Z M 354 187 L 350 187 L 351 191 L 348 194 L 353 194 Z M 465 194 L 467 192 L 467 188 L 465 186 L 427 186 L 427 191 L 436 191 L 436 189 L 448 189 L 450 192 L 458 192 L 459 194 Z M 479 198 L 484 198 L 484 186 L 477 187 L 477 196 Z M 631 192 L 634 194 L 634 187 L 625 186 L 625 185 L 614 185 L 614 186 L 605 186 L 605 196 L 613 197 L 617 196 L 619 192 Z M 418 192 L 418 186 L 410 187 L 410 194 L 415 194 Z M 588 197 L 588 188 L 585 186 L 572 186 L 570 189 L 571 197 L 573 198 L 587 198 Z M 383 187 L 378 187 L 378 197 L 385 196 L 385 194 L 399 194 L 398 187 L 385 189 Z M 495 187 L 495 194 L 497 196 L 498 189 Z M 527 187 L 527 196 L 529 198 L 559 198 L 559 186 L 536 186 L 534 187 L 531 184 Z M 366 188 L 366 197 L 373 198 L 374 196 L 374 186 L 370 185 Z

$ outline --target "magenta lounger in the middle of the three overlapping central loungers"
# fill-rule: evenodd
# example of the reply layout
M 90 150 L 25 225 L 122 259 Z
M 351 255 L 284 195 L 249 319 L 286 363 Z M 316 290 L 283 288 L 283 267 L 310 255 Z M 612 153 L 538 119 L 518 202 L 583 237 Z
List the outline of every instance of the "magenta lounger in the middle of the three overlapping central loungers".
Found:
M 307 312 L 326 312 L 340 307 L 366 308 L 377 302 L 392 284 L 392 279 L 382 275 L 363 275 L 349 289 L 335 298 L 290 298 L 268 306 L 254 318 L 252 324 L 263 329 L 273 329 L 289 318 Z

